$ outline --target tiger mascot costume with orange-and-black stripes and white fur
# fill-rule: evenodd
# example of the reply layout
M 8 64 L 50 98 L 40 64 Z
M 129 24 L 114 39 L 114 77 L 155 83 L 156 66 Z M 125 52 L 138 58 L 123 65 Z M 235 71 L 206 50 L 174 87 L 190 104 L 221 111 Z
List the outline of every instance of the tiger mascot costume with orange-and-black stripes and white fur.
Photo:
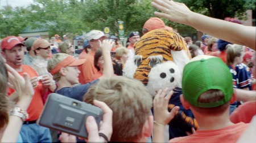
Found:
M 179 106 L 180 111 L 170 122 L 169 138 L 186 136 L 191 127 L 197 129 L 192 112 L 185 110 L 179 99 L 183 68 L 191 59 L 183 37 L 174 31 L 155 29 L 144 34 L 134 49 L 135 55 L 127 60 L 123 76 L 142 81 L 153 97 L 159 89 L 174 90 L 168 110 Z

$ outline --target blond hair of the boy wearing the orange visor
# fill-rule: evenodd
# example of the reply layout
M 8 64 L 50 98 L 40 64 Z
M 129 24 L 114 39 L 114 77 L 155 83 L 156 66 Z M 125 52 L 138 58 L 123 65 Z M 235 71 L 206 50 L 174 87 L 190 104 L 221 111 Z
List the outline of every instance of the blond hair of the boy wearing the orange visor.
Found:
M 48 61 L 48 66 L 47 66 L 48 72 L 51 72 L 52 68 L 54 68 L 58 63 L 60 63 L 62 60 L 64 60 L 67 57 L 68 57 L 68 54 L 65 54 L 65 53 L 53 54 L 52 58 L 49 59 Z M 59 72 L 52 76 L 53 76 L 53 80 L 55 81 L 59 81 L 61 77 Z

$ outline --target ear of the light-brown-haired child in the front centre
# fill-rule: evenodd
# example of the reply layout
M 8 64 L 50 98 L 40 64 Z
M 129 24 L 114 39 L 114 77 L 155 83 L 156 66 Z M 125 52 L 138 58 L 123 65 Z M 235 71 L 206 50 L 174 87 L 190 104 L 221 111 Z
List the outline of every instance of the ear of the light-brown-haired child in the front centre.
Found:
M 146 122 L 143 125 L 142 135 L 144 137 L 150 137 L 151 133 L 153 131 L 153 126 L 154 126 L 154 117 L 152 115 L 150 115 L 150 116 L 148 116 Z

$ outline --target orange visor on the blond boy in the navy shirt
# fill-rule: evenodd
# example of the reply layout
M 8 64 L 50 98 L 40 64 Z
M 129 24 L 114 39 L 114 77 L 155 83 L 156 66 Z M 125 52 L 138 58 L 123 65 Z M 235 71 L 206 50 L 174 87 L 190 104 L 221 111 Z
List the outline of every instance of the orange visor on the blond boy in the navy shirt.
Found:
M 67 58 L 62 60 L 60 63 L 58 63 L 54 68 L 51 70 L 51 74 L 55 75 L 60 71 L 61 68 L 65 68 L 67 66 L 80 66 L 81 64 L 84 64 L 86 59 L 75 59 L 71 55 L 68 55 Z

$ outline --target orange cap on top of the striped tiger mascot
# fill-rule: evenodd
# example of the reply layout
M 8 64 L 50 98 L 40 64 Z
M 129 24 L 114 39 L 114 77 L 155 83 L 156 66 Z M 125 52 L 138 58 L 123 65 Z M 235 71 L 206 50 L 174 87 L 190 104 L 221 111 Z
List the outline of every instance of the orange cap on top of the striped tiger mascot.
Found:
M 168 29 L 172 31 L 171 27 L 167 27 L 166 24 L 164 24 L 162 19 L 159 18 L 150 18 L 148 19 L 144 25 L 143 28 L 147 29 L 147 31 L 152 31 L 154 29 Z

